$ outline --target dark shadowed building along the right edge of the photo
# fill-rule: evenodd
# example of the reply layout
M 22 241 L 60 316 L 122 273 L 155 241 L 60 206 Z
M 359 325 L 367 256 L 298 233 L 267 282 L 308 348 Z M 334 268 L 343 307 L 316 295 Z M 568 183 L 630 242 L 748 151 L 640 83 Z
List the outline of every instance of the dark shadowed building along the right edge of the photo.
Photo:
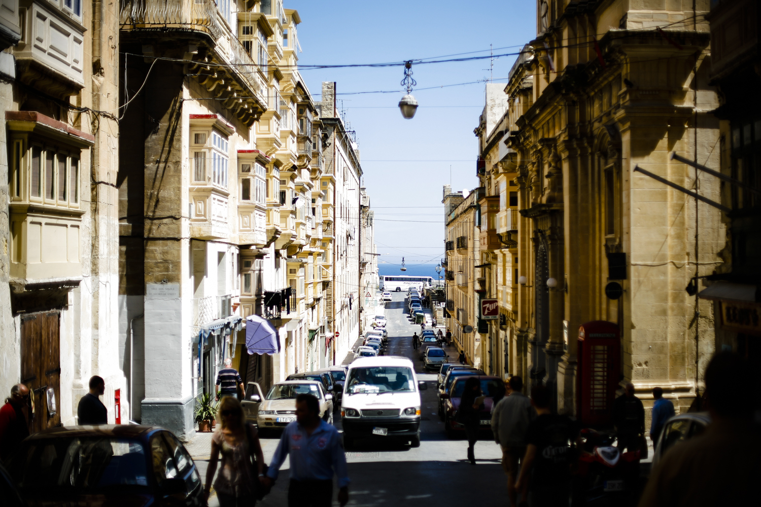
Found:
M 721 204 L 728 234 L 716 272 L 699 296 L 714 304 L 716 348 L 745 356 L 759 379 L 761 366 L 761 65 L 758 2 L 711 2 L 711 79 L 718 90 Z M 699 159 L 699 163 L 703 160 Z M 705 173 L 701 178 L 711 178 Z M 734 181 L 733 181 L 734 180 Z M 697 288 L 697 287 L 696 287 Z M 700 287 L 702 288 L 702 287 Z M 756 407 L 761 406 L 758 389 Z

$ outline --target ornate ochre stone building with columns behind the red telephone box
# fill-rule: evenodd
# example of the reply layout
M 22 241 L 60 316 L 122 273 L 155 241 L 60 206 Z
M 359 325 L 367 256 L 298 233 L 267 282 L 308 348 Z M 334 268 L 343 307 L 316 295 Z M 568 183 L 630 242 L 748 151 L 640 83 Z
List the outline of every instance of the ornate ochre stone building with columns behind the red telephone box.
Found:
M 492 283 L 509 331 L 507 372 L 556 389 L 562 413 L 612 401 L 580 381 L 586 322 L 614 325 L 622 382 L 646 404 L 660 385 L 679 409 L 689 406 L 715 347 L 711 306 L 684 288 L 722 263 L 720 213 L 635 172 L 694 189 L 693 171 L 670 152 L 718 168 L 708 2 L 695 9 L 540 0 L 537 37 L 504 87 L 508 110 L 491 129 L 485 110 L 476 128 L 481 261 L 501 264 Z M 718 198 L 715 179 L 698 188 Z

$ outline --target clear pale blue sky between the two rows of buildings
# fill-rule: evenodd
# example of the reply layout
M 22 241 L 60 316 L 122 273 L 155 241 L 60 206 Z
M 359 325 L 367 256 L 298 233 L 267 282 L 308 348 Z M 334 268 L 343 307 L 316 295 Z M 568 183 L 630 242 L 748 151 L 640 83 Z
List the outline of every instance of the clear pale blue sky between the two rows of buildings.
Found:
M 300 65 L 400 62 L 447 56 L 467 58 L 517 52 L 536 33 L 533 0 L 285 0 L 298 10 Z M 414 119 L 397 107 L 403 66 L 301 69 L 314 100 L 322 81 L 336 81 L 339 107 L 356 131 L 364 185 L 375 211 L 381 273 L 400 265 L 428 274 L 444 256 L 442 186 L 473 189 L 478 143 L 473 129 L 484 103 L 484 82 L 504 83 L 514 55 L 470 62 L 413 65 L 420 104 Z M 468 83 L 462 86 L 442 85 Z M 438 87 L 431 90 L 422 88 Z M 393 93 L 361 93 L 399 90 Z M 352 94 L 342 94 L 352 93 Z M 451 167 L 451 170 L 450 170 Z M 396 221 L 399 220 L 399 221 Z M 407 221 L 418 220 L 418 221 Z M 412 269 L 415 265 L 420 265 Z M 397 273 L 401 274 L 399 271 Z

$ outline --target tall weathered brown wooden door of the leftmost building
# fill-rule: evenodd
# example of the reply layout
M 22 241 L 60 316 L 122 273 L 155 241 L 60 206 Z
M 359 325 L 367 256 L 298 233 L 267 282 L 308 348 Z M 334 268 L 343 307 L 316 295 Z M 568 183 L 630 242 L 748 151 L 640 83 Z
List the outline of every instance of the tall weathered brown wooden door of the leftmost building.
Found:
M 30 433 L 61 424 L 61 313 L 21 317 L 21 383 L 32 393 Z

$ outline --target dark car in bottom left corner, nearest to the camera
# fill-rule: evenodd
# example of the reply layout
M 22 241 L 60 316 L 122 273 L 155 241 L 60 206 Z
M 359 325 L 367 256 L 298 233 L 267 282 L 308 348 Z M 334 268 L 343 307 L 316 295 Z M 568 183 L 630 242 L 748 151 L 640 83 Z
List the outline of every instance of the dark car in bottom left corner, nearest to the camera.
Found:
M 193 458 L 176 436 L 154 426 L 45 429 L 21 442 L 6 466 L 30 507 L 206 503 Z M 14 505 L 8 493 L 2 498 Z

